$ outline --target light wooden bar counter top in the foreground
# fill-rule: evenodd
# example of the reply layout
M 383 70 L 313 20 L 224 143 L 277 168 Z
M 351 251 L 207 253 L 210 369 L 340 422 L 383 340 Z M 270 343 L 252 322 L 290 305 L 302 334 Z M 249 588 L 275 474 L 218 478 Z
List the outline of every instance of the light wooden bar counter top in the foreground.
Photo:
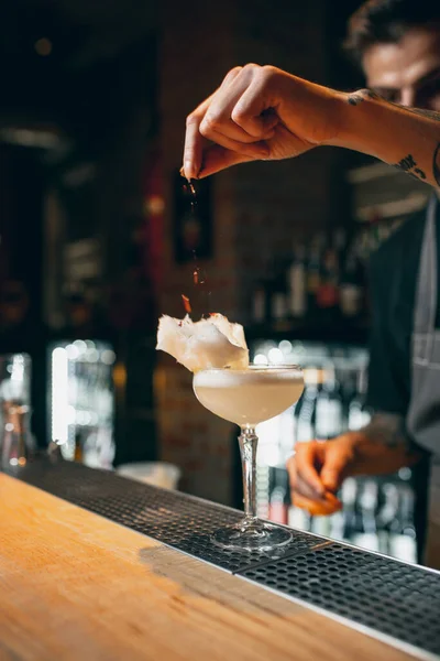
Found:
M 415 658 L 6 475 L 0 502 L 1 661 Z

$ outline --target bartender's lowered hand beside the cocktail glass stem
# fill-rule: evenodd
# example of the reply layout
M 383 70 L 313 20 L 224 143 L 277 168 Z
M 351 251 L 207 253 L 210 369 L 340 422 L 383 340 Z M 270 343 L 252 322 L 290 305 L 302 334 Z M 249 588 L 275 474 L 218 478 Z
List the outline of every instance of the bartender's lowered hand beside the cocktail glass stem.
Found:
M 341 509 L 334 492 L 350 473 L 354 460 L 353 437 L 297 443 L 287 462 L 292 502 L 310 514 L 332 514 Z

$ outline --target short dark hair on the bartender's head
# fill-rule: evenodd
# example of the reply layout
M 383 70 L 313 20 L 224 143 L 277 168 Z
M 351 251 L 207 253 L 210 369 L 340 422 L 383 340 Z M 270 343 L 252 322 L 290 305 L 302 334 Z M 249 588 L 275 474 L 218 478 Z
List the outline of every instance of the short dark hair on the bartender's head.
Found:
M 397 43 L 407 30 L 440 24 L 439 0 L 366 0 L 348 24 L 344 51 L 362 64 L 365 51 L 376 43 Z

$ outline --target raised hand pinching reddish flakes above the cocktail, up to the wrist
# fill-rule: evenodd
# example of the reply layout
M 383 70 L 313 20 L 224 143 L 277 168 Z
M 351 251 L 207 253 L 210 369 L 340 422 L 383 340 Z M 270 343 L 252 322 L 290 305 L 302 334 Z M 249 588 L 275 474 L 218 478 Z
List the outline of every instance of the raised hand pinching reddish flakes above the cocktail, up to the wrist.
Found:
M 296 156 L 338 134 L 341 95 L 274 66 L 231 69 L 187 118 L 187 178 L 256 160 Z

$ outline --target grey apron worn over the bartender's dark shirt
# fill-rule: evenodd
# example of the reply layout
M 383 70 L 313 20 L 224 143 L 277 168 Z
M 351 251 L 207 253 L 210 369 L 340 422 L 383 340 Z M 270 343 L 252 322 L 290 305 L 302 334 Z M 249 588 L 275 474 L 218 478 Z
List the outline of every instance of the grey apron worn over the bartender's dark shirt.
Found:
M 407 429 L 431 454 L 425 564 L 440 570 L 440 330 L 436 330 L 438 198 L 427 210 L 414 308 L 411 400 Z

